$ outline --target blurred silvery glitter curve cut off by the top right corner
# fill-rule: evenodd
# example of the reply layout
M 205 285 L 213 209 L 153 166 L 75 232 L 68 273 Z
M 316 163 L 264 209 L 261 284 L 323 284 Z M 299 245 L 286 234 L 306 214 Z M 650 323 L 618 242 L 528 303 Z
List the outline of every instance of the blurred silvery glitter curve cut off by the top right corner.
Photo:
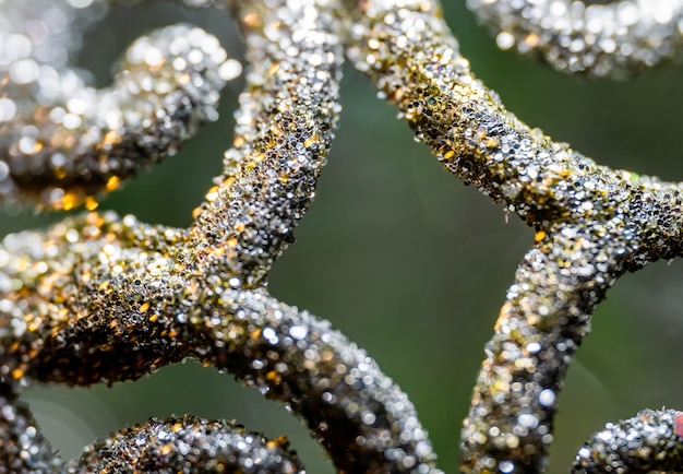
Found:
M 595 76 L 633 74 L 676 55 L 683 44 L 683 2 L 621 0 L 586 5 L 574 0 L 468 0 L 496 34 L 553 68 Z

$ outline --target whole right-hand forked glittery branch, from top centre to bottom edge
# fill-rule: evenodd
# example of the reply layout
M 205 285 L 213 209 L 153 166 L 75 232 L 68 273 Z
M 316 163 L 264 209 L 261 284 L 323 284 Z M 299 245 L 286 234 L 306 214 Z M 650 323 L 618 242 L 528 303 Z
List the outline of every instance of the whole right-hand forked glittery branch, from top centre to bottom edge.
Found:
M 679 185 L 597 166 L 519 121 L 471 75 L 434 3 L 364 2 L 349 56 L 446 169 L 537 229 L 487 345 L 462 472 L 541 472 L 595 307 L 625 271 L 680 254 Z

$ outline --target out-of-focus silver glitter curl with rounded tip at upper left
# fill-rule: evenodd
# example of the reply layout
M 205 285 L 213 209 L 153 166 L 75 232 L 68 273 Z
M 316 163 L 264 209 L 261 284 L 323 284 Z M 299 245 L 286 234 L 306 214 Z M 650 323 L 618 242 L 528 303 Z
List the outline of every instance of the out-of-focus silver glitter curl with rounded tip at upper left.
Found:
M 62 24 L 85 26 L 88 11 L 65 0 L 2 7 L 0 202 L 95 209 L 97 193 L 175 154 L 200 122 L 215 120 L 220 88 L 240 71 L 214 36 L 178 25 L 137 39 L 113 85 L 88 87 L 64 62 L 77 35 Z

